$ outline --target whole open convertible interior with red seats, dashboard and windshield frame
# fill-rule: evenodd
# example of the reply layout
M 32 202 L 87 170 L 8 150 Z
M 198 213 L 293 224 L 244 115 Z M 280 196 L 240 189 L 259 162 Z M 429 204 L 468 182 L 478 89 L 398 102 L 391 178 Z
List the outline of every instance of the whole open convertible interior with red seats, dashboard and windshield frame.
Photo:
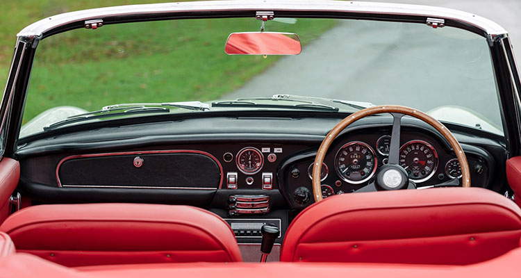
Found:
M 212 22 L 218 28 L 210 29 Z M 139 39 L 122 33 L 160 24 L 174 24 L 167 30 L 203 26 L 193 37 L 162 42 L 215 44 L 217 58 L 210 51 L 190 56 L 188 47 L 163 51 L 160 38 L 134 49 L 132 41 Z M 390 29 L 399 35 L 381 32 L 386 24 L 396 24 Z M 222 33 L 208 35 L 206 28 Z M 349 54 L 367 56 L 370 64 L 335 54 L 343 50 L 331 38 L 350 28 L 375 40 L 368 52 Z M 118 35 L 126 41 L 121 49 Z M 92 49 L 88 60 L 56 50 L 76 40 L 108 47 L 98 50 L 109 57 L 115 51 L 115 58 L 102 64 Z M 441 41 L 432 46 L 439 52 L 415 40 Z M 313 56 L 320 44 L 328 44 L 331 54 Z M 147 67 L 142 57 L 130 58 L 133 51 L 144 51 L 140 55 L 165 69 L 187 67 L 186 73 L 162 81 L 154 77 L 161 70 L 151 71 L 145 76 L 149 92 L 138 85 L 131 97 L 126 82 L 143 76 L 121 76 L 129 67 Z M 187 61 L 165 65 L 156 56 L 176 51 Z M 410 56 L 396 56 L 403 63 L 382 70 L 395 51 Z M 200 55 L 205 65 L 188 69 Z M 425 65 L 423 56 L 432 59 L 432 69 L 414 68 Z M 314 79 L 303 72 L 333 67 L 317 60 L 359 67 L 354 75 L 327 72 Z M 220 75 L 203 75 L 219 63 L 230 63 L 217 71 L 228 77 L 215 82 L 237 95 L 200 97 L 215 84 L 199 90 L 188 75 L 200 74 L 201 83 L 217 80 Z M 251 63 L 263 67 L 251 69 Z M 301 71 L 277 72 L 292 67 Z M 83 88 L 88 86 L 80 79 L 93 70 L 104 73 L 88 84 L 114 83 L 110 92 L 89 95 Z M 251 76 L 241 75 L 244 83 L 236 85 L 229 77 L 234 74 Z M 67 78 L 73 85 L 65 85 Z M 155 99 L 150 84 L 170 79 L 177 82 L 169 95 L 176 102 Z M 62 85 L 67 88 L 60 95 Z M 195 86 L 192 99 L 176 99 L 182 85 Z M 311 95 L 304 94 L 306 87 Z M 357 90 L 359 99 L 327 95 L 330 87 L 340 90 L 338 96 Z M 371 99 L 383 88 L 389 90 L 384 97 Z M 92 111 L 91 104 L 71 100 L 76 90 L 78 99 L 103 101 L 114 94 L 120 101 Z M 520 90 L 508 33 L 456 10 L 349 1 L 189 1 L 47 17 L 17 35 L 0 106 L 0 277 L 518 277 Z M 453 101 L 458 94 L 462 100 Z M 195 101 L 198 96 L 203 101 Z M 438 107 L 436 99 L 446 102 Z

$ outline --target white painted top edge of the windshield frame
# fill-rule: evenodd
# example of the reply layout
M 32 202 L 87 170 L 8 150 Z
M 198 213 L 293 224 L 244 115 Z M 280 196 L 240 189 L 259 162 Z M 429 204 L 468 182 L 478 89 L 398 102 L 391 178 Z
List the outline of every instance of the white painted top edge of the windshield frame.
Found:
M 294 11 L 329 11 L 351 13 L 379 13 L 382 15 L 416 15 L 424 17 L 440 17 L 442 19 L 456 19 L 461 22 L 477 26 L 488 35 L 504 35 L 506 30 L 499 24 L 471 13 L 449 8 L 419 6 L 396 3 L 368 3 L 358 1 L 322 1 L 322 0 L 236 0 L 236 1 L 196 1 L 143 4 L 130 6 L 115 6 L 108 8 L 94 8 L 78 10 L 71 13 L 54 15 L 26 26 L 18 37 L 40 36 L 53 28 L 72 22 L 89 19 L 99 19 L 117 15 L 146 15 L 154 13 L 180 13 L 196 11 L 226 11 L 226 10 L 294 10 Z

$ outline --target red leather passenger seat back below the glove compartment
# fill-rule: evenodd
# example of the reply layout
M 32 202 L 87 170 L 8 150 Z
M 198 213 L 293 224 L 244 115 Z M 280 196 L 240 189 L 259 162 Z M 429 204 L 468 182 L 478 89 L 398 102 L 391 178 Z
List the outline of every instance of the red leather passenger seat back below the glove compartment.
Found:
M 0 231 L 17 252 L 66 266 L 242 261 L 229 225 L 191 206 L 31 206 L 11 215 Z

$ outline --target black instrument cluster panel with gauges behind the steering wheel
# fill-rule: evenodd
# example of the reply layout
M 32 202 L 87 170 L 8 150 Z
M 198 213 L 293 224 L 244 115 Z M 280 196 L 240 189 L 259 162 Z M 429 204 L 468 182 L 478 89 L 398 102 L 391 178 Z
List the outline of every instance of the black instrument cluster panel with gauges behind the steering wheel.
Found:
M 370 183 L 379 167 L 388 163 L 390 131 L 345 134 L 333 142 L 322 164 L 322 197 L 354 193 Z M 316 150 L 299 154 L 281 165 L 281 190 L 296 208 L 313 202 L 312 172 Z M 482 149 L 465 150 L 472 186 L 486 187 L 490 181 L 490 154 Z M 461 167 L 443 140 L 415 130 L 402 132 L 399 165 L 417 188 L 458 186 Z M 301 172 L 305 172 L 303 175 Z

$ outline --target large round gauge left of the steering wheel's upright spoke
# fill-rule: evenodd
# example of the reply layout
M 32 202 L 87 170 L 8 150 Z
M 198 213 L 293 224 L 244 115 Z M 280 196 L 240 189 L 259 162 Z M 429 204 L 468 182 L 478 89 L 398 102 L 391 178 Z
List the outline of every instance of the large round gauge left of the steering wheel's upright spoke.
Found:
M 349 142 L 336 153 L 335 170 L 348 183 L 363 183 L 377 171 L 376 154 L 364 142 Z

